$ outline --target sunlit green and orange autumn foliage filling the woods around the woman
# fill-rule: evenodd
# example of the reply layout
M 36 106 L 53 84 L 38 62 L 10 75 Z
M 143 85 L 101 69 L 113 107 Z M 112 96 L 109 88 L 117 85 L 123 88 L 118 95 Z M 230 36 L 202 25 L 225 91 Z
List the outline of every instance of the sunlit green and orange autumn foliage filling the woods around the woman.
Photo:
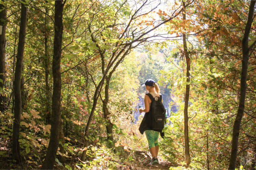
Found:
M 60 141 L 54 168 L 148 169 L 150 156 L 144 152 L 148 143 L 138 130 L 143 117 L 138 112 L 145 94 L 142 84 L 148 78 L 160 85 L 168 110 L 165 138 L 159 138 L 160 157 L 171 163 L 168 168 L 184 168 L 188 84 L 189 168 L 228 168 L 251 3 L 186 0 L 184 10 L 182 0 L 64 1 Z M 39 169 L 56 123 L 52 121 L 56 2 L 1 0 L 0 5 L 0 24 L 6 26 L 0 35 L 6 39 L 0 41 L 0 64 L 5 65 L 3 71 L 0 68 L 0 75 L 5 75 L 0 77 L 0 168 Z M 27 8 L 27 21 L 17 158 L 12 145 L 21 5 Z M 255 168 L 255 7 L 253 12 L 236 158 L 240 169 Z M 182 37 L 190 58 L 189 82 Z

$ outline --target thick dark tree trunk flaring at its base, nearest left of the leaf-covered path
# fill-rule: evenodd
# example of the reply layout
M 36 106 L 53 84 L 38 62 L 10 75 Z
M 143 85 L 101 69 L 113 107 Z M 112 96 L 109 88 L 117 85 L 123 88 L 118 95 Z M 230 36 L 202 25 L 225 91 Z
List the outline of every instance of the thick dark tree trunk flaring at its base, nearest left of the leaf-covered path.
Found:
M 54 25 L 54 43 L 53 43 L 53 59 L 52 59 L 52 75 L 53 75 L 53 93 L 52 93 L 52 120 L 51 120 L 51 136 L 41 169 L 53 169 L 55 156 L 59 146 L 60 128 L 61 128 L 61 48 L 63 34 L 63 0 L 55 1 L 55 25 Z

